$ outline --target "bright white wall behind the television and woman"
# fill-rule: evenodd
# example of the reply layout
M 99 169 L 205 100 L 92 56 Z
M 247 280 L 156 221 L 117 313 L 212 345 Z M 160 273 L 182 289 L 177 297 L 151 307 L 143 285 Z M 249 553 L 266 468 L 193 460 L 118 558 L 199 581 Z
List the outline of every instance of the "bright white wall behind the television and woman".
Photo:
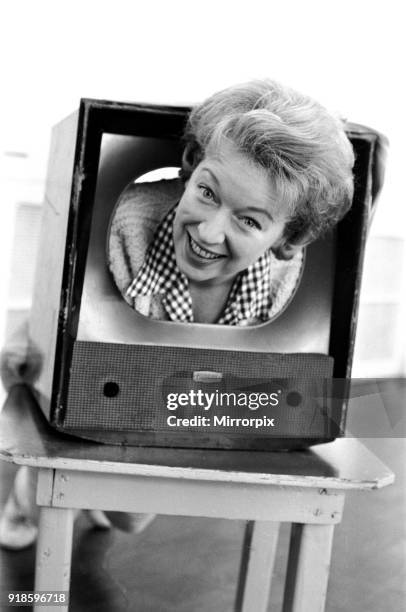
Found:
M 29 302 L 35 211 L 51 126 L 75 109 L 80 97 L 185 104 L 234 82 L 271 76 L 391 140 L 368 245 L 354 374 L 405 375 L 399 5 L 391 0 L 384 9 L 381 2 L 363 0 L 283 6 L 269 0 L 3 3 L 0 50 L 8 59 L 0 103 L 0 335 L 6 306 L 15 322 Z M 23 219 L 23 212 L 16 230 L 16 213 Z M 15 231 L 23 247 L 12 256 Z

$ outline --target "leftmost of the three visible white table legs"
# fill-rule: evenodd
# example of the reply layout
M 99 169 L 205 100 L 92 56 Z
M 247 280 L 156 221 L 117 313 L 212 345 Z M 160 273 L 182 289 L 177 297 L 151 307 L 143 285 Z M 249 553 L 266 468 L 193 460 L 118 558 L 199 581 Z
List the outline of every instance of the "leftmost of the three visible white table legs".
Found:
M 68 591 L 74 510 L 42 506 L 39 515 L 35 565 L 36 591 Z M 47 612 L 64 612 L 67 606 L 47 605 Z M 38 606 L 35 612 L 44 610 Z

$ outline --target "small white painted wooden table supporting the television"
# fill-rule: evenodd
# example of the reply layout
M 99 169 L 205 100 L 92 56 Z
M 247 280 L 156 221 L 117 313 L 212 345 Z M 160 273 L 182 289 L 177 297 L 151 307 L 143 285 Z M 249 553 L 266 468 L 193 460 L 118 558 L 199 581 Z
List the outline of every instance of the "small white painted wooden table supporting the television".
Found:
M 293 524 L 283 612 L 324 610 L 346 492 L 394 480 L 354 439 L 290 453 L 86 443 L 54 432 L 25 387 L 1 413 L 0 458 L 39 468 L 36 590 L 69 590 L 76 508 L 245 519 L 240 612 L 267 609 L 281 522 Z

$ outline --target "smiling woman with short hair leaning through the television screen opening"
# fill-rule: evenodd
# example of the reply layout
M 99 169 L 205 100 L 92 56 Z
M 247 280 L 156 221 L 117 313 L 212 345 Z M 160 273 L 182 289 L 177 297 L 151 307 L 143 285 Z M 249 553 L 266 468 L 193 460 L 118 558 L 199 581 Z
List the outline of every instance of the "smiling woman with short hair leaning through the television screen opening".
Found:
M 350 206 L 343 125 L 312 99 L 255 81 L 193 109 L 185 140 L 181 179 L 133 185 L 118 202 L 116 284 L 155 319 L 269 321 L 298 285 L 303 247 Z

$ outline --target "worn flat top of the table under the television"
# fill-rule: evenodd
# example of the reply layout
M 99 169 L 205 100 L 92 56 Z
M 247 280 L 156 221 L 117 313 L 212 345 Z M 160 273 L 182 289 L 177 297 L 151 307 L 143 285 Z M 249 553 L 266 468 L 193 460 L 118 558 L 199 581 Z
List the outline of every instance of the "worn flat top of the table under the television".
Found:
M 289 452 L 88 442 L 50 427 L 24 385 L 11 390 L 0 414 L 0 459 L 64 470 L 342 490 L 377 489 L 394 481 L 389 468 L 354 438 Z

